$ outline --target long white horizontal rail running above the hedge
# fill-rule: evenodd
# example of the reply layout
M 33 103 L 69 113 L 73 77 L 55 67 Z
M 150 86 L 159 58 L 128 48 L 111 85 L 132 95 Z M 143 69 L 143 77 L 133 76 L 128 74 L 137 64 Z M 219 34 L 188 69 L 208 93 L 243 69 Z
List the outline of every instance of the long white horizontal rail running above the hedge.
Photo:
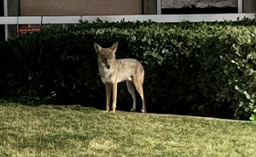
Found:
M 255 14 L 153 14 L 153 15 L 106 15 L 106 16 L 15 16 L 0 17 L 0 25 L 44 25 L 78 24 L 79 20 L 89 22 L 97 19 L 108 22 L 117 21 L 155 21 L 158 23 L 236 21 L 243 18 L 254 19 Z

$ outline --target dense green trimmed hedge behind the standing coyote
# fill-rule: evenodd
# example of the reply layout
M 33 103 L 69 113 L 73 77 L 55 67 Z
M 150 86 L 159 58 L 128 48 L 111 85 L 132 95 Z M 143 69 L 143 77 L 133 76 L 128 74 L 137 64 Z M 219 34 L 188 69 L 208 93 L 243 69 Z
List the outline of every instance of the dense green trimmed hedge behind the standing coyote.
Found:
M 256 120 L 255 20 L 224 23 L 118 22 L 44 26 L 0 43 L 3 98 L 104 108 L 93 43 L 119 41 L 117 58 L 143 63 L 151 112 Z M 131 96 L 119 86 L 119 109 Z M 22 97 L 21 97 L 22 96 Z

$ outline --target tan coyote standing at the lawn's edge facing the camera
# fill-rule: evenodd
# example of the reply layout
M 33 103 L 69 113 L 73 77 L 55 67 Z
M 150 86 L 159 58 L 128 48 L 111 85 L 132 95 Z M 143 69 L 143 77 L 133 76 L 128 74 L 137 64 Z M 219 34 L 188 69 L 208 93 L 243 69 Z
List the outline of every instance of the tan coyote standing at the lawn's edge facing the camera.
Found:
M 116 98 L 117 98 L 117 83 L 125 81 L 129 93 L 133 99 L 133 106 L 131 111 L 136 111 L 136 94 L 140 94 L 143 100 L 142 112 L 146 112 L 144 94 L 143 94 L 143 81 L 144 69 L 143 65 L 136 59 L 115 59 L 115 52 L 118 47 L 118 42 L 113 43 L 110 48 L 102 48 L 99 44 L 95 43 L 94 48 L 98 56 L 98 66 L 102 82 L 106 87 L 106 112 L 109 111 L 111 92 L 113 92 L 112 111 L 115 113 Z M 132 85 L 132 82 L 134 86 Z

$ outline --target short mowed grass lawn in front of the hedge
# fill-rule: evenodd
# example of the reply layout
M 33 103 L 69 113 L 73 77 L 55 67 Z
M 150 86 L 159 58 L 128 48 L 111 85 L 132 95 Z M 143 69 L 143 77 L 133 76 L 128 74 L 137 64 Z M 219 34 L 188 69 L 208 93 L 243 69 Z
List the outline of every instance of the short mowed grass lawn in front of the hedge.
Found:
M 0 104 L 0 156 L 256 156 L 256 124 Z

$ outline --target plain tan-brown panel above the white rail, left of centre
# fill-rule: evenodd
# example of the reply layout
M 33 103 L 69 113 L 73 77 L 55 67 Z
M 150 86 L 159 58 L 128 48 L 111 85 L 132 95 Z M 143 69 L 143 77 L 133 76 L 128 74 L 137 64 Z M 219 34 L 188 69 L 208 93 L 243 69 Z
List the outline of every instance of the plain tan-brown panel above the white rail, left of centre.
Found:
M 21 15 L 143 14 L 143 0 L 20 0 Z

